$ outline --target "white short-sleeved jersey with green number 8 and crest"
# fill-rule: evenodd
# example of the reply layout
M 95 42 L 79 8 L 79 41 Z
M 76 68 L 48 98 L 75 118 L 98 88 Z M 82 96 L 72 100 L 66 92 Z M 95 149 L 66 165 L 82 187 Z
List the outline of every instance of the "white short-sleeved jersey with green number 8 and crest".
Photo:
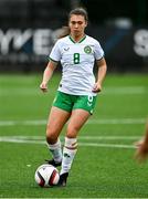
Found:
M 70 35 L 57 40 L 50 59 L 62 64 L 59 91 L 72 95 L 96 95 L 92 92 L 95 84 L 94 62 L 103 56 L 99 42 L 88 35 L 77 43 Z

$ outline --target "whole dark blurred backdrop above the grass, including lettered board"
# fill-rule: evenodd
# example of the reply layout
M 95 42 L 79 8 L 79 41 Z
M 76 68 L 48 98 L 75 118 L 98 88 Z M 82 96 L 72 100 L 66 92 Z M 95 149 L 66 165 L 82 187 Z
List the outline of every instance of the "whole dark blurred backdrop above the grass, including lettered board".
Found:
M 88 11 L 110 72 L 148 72 L 147 0 L 0 0 L 0 72 L 40 72 L 75 7 Z

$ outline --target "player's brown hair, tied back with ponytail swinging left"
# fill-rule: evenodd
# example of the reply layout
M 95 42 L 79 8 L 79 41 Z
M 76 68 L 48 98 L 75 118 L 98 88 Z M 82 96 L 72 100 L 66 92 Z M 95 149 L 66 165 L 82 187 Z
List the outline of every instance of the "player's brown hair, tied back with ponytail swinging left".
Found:
M 87 14 L 87 11 L 84 9 L 84 8 L 76 8 L 74 10 L 72 10 L 68 14 L 68 20 L 71 19 L 71 17 L 73 14 L 76 14 L 76 15 L 83 15 L 85 21 L 88 21 L 88 14 Z M 70 30 L 70 27 L 63 27 L 62 28 L 62 33 L 60 34 L 59 39 L 60 38 L 64 38 L 66 35 L 68 35 L 71 33 L 71 30 Z

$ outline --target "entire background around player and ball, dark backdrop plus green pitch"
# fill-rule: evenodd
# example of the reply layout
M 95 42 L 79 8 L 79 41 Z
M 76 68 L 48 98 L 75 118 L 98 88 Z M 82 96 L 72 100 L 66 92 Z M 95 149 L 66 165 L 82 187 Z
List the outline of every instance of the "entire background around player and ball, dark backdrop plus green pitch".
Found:
M 108 72 L 78 136 L 70 187 L 38 189 L 34 172 L 51 158 L 45 126 L 61 67 L 46 94 L 39 85 L 60 29 L 80 6 Z M 0 0 L 0 198 L 148 198 L 148 165 L 134 160 L 146 121 L 148 0 Z

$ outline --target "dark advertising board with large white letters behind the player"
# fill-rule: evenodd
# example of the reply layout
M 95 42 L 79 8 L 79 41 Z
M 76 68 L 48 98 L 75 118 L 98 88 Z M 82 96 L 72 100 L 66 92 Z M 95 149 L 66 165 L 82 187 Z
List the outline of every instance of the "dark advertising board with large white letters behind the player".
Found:
M 0 71 L 42 71 L 59 29 L 0 29 Z M 105 51 L 110 72 L 148 72 L 148 28 L 89 25 Z

